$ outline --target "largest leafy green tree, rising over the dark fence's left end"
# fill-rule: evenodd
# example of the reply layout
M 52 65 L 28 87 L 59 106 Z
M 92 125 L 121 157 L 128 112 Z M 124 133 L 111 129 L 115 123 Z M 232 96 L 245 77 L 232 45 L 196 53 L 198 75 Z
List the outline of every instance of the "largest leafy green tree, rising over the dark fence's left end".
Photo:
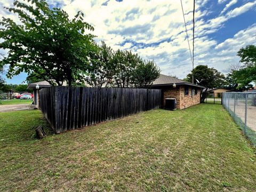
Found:
M 19 15 L 21 24 L 10 18 L 0 22 L 0 48 L 9 50 L 0 66 L 10 65 L 8 77 L 25 71 L 51 84 L 83 82 L 90 66 L 89 55 L 95 51 L 94 36 L 85 34 L 85 30 L 93 27 L 83 20 L 80 11 L 70 20 L 65 11 L 50 9 L 44 0 L 27 2 L 14 1 L 14 8 L 5 7 Z

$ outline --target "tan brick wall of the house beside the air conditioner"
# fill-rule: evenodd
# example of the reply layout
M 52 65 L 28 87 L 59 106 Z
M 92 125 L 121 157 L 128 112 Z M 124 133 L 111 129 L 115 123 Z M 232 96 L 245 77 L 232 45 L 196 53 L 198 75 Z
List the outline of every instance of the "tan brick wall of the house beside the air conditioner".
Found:
M 196 87 L 194 88 L 196 89 Z M 197 94 L 193 97 L 192 87 L 189 86 L 188 95 L 185 96 L 185 86 L 178 86 L 175 88 L 165 89 L 164 90 L 164 107 L 166 98 L 175 98 L 177 101 L 177 109 L 185 109 L 187 107 L 197 105 L 200 103 L 200 89 L 197 89 Z

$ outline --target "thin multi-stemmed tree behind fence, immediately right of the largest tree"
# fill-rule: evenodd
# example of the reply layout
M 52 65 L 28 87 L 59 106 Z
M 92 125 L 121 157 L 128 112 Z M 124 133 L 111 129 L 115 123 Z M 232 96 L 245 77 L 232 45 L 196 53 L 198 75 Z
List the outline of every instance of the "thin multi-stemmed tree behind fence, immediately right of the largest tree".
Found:
M 113 83 L 115 65 L 113 65 L 114 51 L 105 42 L 101 42 L 98 51 L 92 55 L 92 65 L 86 82 L 92 87 L 107 87 Z

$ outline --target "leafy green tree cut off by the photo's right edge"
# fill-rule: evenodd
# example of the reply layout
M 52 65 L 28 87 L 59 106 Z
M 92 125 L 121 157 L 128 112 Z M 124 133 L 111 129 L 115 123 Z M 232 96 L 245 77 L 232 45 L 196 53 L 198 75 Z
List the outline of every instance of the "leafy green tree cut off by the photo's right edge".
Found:
M 232 77 L 238 84 L 238 87 L 249 89 L 252 82 L 256 82 L 256 46 L 247 45 L 241 48 L 237 55 L 241 58 L 243 64 L 239 70 L 233 71 Z

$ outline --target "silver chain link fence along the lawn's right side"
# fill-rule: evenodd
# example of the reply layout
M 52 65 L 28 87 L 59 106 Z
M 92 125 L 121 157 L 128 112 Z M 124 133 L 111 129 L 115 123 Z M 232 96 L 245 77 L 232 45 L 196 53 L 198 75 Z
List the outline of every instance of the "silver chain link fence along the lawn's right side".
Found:
M 256 146 L 256 93 L 223 93 L 222 105 L 235 119 L 246 137 Z

